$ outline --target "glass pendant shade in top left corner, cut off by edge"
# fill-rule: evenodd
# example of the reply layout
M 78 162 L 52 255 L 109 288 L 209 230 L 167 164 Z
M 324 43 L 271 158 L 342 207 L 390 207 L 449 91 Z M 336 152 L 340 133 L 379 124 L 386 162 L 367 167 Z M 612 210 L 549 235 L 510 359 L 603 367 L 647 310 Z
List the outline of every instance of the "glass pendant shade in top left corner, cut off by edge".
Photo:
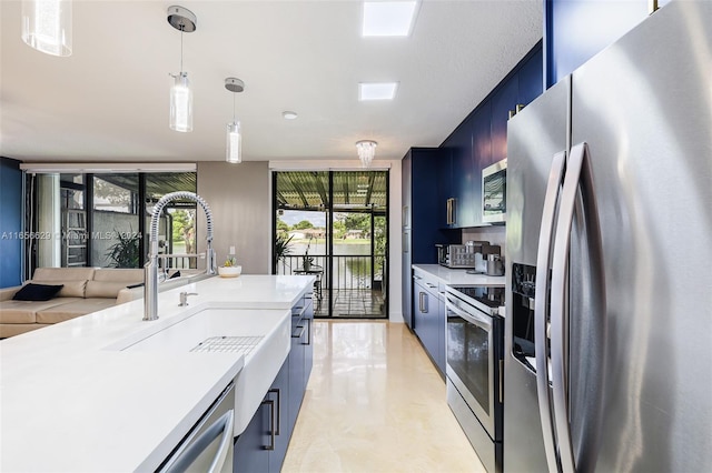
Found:
M 71 56 L 71 0 L 22 0 L 22 41 L 51 56 Z

